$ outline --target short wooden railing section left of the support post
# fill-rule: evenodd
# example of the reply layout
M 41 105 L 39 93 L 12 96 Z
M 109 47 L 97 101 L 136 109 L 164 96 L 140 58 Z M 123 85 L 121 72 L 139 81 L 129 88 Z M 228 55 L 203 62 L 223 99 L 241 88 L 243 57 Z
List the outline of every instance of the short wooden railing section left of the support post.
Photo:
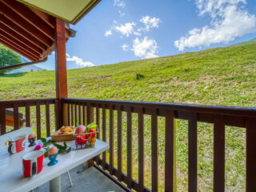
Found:
M 0 134 L 6 134 L 6 131 L 18 130 L 19 128 L 19 111 L 26 116 L 26 126 L 32 126 L 31 122 L 35 125 L 34 128 L 37 133 L 37 138 L 41 138 L 42 132 L 46 133 L 44 137 L 49 137 L 52 134 L 50 126 L 58 127 L 58 100 L 55 98 L 43 98 L 43 99 L 28 99 L 17 101 L 0 101 Z M 8 127 L 6 125 L 6 109 L 14 110 L 14 127 Z M 43 108 L 43 109 L 42 109 Z M 44 110 L 44 113 L 42 113 Z M 34 122 L 35 120 L 35 122 Z M 43 124 L 42 124 L 43 120 Z M 53 124 L 54 125 L 50 125 Z M 43 131 L 43 128 L 46 130 Z M 32 127 L 33 127 L 32 126 Z M 52 129 L 54 131 L 55 129 Z

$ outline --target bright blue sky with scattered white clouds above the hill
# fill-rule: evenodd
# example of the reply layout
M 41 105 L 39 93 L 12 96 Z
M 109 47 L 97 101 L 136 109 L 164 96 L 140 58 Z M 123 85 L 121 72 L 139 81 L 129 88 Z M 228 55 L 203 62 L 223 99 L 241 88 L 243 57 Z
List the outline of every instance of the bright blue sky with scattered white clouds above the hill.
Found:
M 256 38 L 256 1 L 104 0 L 71 28 L 68 69 L 162 57 Z

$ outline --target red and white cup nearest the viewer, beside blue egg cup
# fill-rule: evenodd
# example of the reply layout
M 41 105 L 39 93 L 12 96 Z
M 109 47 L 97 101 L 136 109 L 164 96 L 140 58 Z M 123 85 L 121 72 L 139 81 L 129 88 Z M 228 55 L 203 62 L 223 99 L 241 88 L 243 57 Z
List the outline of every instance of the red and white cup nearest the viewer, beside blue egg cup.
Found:
M 34 174 L 41 172 L 43 156 L 44 152 L 42 150 L 35 150 L 22 157 L 24 177 L 32 177 Z

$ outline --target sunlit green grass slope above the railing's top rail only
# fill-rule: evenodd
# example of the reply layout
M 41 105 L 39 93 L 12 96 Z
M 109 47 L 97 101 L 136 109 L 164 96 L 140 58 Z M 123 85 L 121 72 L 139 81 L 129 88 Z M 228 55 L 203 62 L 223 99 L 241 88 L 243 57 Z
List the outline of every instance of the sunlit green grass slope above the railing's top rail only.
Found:
M 69 97 L 255 106 L 255 48 L 217 48 L 68 70 Z M 54 96 L 54 71 L 0 77 L 1 100 Z

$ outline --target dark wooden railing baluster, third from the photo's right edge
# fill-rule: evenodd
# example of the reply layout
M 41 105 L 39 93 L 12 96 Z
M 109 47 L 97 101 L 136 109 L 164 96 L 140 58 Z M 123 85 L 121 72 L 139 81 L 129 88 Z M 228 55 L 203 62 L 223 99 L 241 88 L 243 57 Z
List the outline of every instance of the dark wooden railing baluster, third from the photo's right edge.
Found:
M 189 192 L 198 191 L 198 122 L 197 114 L 189 117 Z

